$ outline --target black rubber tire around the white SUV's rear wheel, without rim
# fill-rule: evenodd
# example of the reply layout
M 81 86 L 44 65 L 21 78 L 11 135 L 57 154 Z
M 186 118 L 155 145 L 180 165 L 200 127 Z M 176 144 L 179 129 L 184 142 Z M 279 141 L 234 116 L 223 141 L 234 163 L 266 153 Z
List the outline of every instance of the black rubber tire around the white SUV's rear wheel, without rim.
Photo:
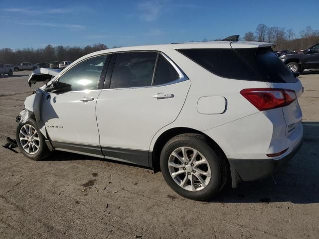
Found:
M 191 147 L 200 152 L 208 161 L 211 178 L 207 186 L 203 189 L 199 191 L 188 191 L 180 187 L 170 175 L 168 160 L 171 153 L 179 147 Z M 195 133 L 177 135 L 164 145 L 160 154 L 160 169 L 169 187 L 180 196 L 192 200 L 201 201 L 213 197 L 222 189 L 227 179 L 227 164 L 225 160 L 217 156 L 204 135 Z M 188 183 L 190 182 L 188 181 Z

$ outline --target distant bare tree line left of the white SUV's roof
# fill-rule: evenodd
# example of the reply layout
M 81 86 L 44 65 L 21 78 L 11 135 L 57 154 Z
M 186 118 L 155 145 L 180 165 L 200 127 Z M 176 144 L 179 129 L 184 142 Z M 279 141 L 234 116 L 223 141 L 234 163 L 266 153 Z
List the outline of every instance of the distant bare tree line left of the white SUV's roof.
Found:
M 105 44 L 87 45 L 85 47 L 47 45 L 45 48 L 23 48 L 12 50 L 0 49 L 0 62 L 3 64 L 19 64 L 21 62 L 40 63 L 52 61 L 75 61 L 76 59 L 100 50 L 109 49 Z

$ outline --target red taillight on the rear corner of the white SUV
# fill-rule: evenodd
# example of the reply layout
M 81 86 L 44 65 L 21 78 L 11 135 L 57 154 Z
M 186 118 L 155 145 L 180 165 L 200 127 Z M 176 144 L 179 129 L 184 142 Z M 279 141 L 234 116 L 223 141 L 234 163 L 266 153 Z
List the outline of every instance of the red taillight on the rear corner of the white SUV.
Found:
M 295 91 L 287 89 L 244 89 L 240 94 L 260 111 L 288 106 L 297 99 Z

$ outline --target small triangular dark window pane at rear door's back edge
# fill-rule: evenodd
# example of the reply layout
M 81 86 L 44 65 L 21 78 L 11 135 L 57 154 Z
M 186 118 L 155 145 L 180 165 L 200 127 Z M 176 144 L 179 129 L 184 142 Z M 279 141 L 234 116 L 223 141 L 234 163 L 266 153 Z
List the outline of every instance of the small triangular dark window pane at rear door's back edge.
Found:
M 154 77 L 154 85 L 163 85 L 178 79 L 179 75 L 174 67 L 160 54 Z

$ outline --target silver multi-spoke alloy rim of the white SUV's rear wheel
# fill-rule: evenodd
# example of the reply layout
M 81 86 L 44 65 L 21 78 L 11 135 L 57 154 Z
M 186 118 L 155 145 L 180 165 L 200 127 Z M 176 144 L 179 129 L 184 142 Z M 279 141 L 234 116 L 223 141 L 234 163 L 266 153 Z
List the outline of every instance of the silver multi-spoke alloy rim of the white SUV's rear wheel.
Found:
M 169 156 L 168 170 L 174 182 L 187 191 L 200 191 L 211 179 L 207 159 L 191 147 L 176 148 Z

